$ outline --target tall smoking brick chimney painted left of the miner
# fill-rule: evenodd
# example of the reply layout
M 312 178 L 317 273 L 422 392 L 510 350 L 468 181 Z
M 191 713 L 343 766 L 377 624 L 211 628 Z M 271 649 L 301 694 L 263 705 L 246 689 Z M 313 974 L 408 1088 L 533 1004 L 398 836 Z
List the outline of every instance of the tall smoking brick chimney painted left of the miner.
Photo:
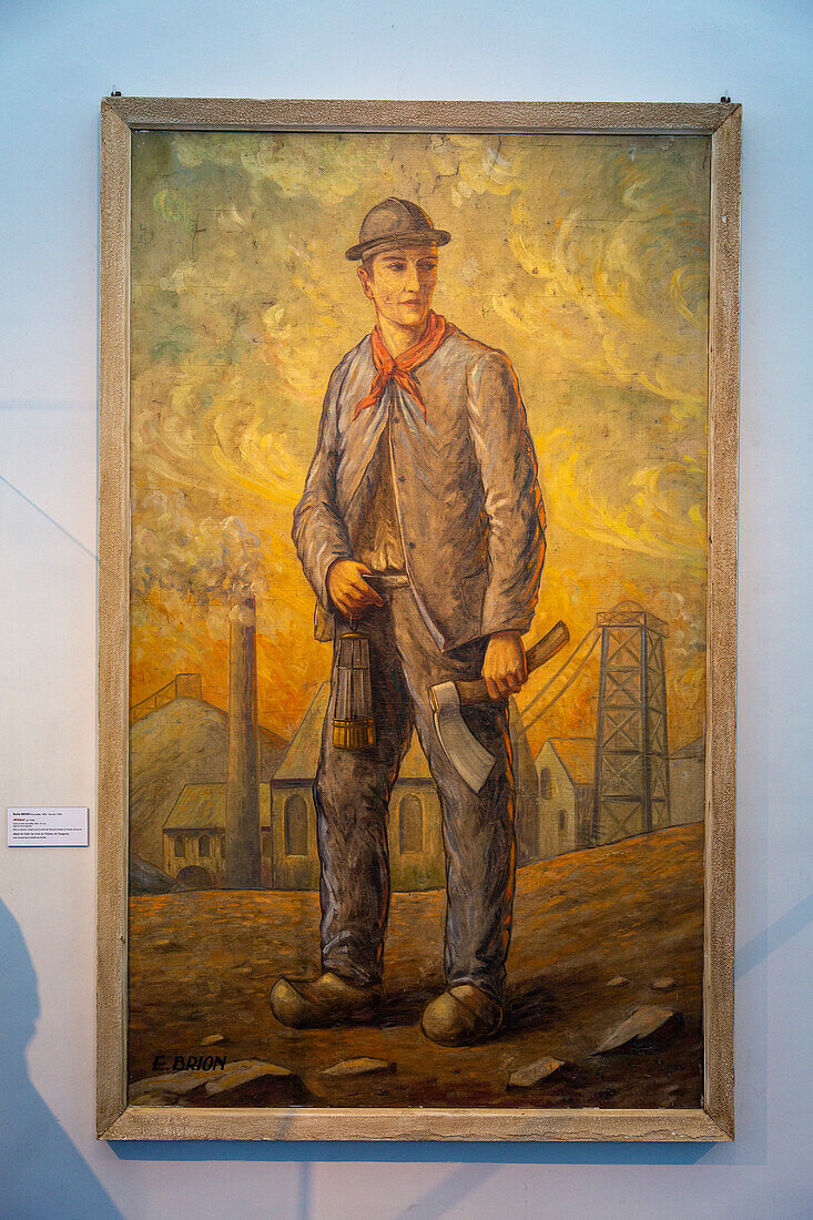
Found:
M 226 886 L 254 889 L 261 884 L 254 598 L 240 598 L 229 620 Z

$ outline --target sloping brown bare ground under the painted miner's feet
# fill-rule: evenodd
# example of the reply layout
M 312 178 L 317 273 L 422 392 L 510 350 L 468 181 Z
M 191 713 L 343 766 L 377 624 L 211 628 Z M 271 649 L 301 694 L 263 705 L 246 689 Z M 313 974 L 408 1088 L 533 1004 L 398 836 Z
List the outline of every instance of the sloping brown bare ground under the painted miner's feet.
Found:
M 695 1108 L 702 1089 L 702 860 L 703 827 L 695 825 L 522 869 L 507 1021 L 497 1038 L 465 1049 L 432 1046 L 419 1025 L 426 999 L 442 989 L 439 892 L 393 895 L 380 1024 L 308 1032 L 277 1025 L 267 996 L 278 975 L 319 970 L 315 893 L 134 898 L 129 1078 L 153 1075 L 155 1055 L 205 1053 L 200 1039 L 221 1033 L 209 1053 L 293 1069 L 304 1085 L 288 1099 L 311 1105 Z M 616 975 L 630 986 L 608 987 Z M 658 994 L 649 985 L 664 975 L 676 987 Z M 640 1004 L 680 1010 L 676 1037 L 659 1050 L 596 1055 L 603 1036 Z M 356 1055 L 392 1060 L 397 1070 L 353 1085 L 317 1077 Z M 547 1055 L 570 1066 L 536 1088 L 505 1089 L 515 1068 Z M 206 1099 L 198 1092 L 190 1100 Z M 239 1098 L 280 1100 L 259 1085 Z M 239 1103 L 232 1096 L 221 1104 Z

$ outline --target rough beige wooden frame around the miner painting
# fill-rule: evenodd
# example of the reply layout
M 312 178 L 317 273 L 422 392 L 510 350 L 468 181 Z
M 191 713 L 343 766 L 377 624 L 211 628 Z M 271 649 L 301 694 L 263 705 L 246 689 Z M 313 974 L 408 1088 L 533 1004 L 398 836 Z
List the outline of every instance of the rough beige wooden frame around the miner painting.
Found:
M 710 140 L 704 1089 L 697 1109 L 161 1108 L 126 1086 L 131 138 L 137 131 L 704 135 Z M 741 107 L 719 104 L 258 101 L 101 104 L 98 1105 L 104 1139 L 734 1137 L 734 805 Z

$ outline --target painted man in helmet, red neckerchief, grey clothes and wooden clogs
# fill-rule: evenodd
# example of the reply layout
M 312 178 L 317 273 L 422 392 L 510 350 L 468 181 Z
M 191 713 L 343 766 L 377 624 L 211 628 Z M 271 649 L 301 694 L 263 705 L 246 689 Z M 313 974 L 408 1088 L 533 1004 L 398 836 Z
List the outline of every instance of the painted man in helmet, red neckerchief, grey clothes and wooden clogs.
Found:
M 294 1027 L 374 1017 L 389 906 L 387 809 L 413 727 L 441 798 L 447 863 L 447 989 L 424 1033 L 468 1046 L 502 1022 L 514 897 L 508 698 L 526 678 L 544 556 L 544 515 L 510 362 L 431 310 L 438 246 L 416 204 L 387 199 L 347 257 L 376 326 L 333 371 L 293 538 L 334 640 L 314 784 L 321 860 L 322 974 L 281 978 L 277 1020 Z M 375 744 L 333 741 L 338 640 L 369 638 Z M 441 748 L 428 700 L 439 682 L 485 677 L 464 709 L 496 759 L 475 793 Z

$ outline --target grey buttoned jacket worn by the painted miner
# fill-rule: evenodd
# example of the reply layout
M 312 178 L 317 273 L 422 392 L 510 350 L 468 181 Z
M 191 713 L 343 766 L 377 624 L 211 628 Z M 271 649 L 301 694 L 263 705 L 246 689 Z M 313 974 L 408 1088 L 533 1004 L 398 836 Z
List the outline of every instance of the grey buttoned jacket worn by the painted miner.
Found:
M 536 454 L 509 360 L 459 331 L 413 370 L 424 405 L 394 382 L 353 420 L 375 377 L 370 336 L 333 370 L 293 540 L 332 638 L 327 570 L 353 559 L 365 478 L 391 414 L 391 460 L 406 573 L 442 649 L 531 625 L 544 559 Z M 321 612 L 320 612 L 321 611 Z

